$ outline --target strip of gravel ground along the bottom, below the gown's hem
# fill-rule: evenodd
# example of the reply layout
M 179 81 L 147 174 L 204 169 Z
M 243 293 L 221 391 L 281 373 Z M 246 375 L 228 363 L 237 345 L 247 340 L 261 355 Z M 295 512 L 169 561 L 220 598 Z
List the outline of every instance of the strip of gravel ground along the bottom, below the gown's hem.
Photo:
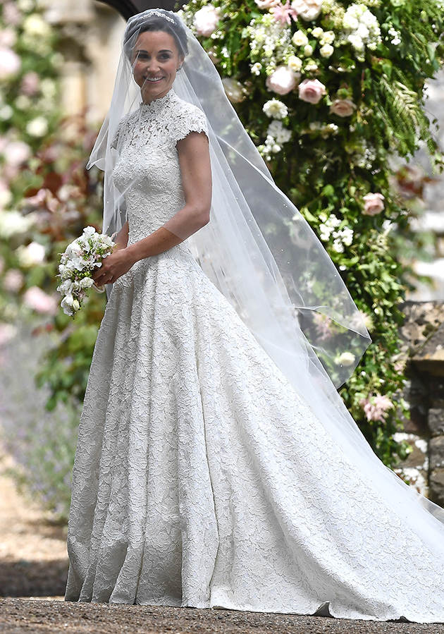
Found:
M 443 625 L 228 610 L 0 599 L 1 634 L 444 634 Z

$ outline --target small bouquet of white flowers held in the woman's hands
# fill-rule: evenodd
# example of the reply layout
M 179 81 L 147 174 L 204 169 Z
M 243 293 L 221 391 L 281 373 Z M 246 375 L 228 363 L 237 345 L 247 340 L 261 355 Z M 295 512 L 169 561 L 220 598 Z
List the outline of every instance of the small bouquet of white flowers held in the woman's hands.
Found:
M 80 310 L 87 288 L 94 285 L 94 269 L 101 267 L 102 260 L 113 252 L 115 245 L 109 236 L 88 226 L 83 229 L 80 238 L 66 247 L 58 265 L 61 284 L 57 288 L 63 295 L 61 307 L 65 315 L 74 316 Z M 97 290 L 102 292 L 99 288 Z

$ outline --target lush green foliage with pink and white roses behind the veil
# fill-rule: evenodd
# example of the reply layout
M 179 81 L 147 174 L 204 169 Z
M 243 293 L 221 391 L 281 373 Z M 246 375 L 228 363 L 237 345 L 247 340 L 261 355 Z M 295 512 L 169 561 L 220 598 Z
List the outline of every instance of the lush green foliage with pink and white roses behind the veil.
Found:
M 191 0 L 183 11 L 198 36 L 206 5 Z M 405 454 L 393 439 L 406 415 L 398 336 L 399 305 L 412 279 L 405 255 L 427 254 L 429 245 L 410 229 L 408 200 L 412 191 L 421 195 L 426 177 L 391 165 L 393 157 L 409 161 L 423 143 L 433 169 L 442 166 L 423 92 L 443 59 L 442 3 L 324 0 L 317 15 L 303 0 L 211 6 L 218 24 L 199 39 L 276 183 L 321 238 L 370 331 L 373 343 L 341 394 L 378 456 L 393 465 Z M 390 407 L 367 415 L 377 395 Z

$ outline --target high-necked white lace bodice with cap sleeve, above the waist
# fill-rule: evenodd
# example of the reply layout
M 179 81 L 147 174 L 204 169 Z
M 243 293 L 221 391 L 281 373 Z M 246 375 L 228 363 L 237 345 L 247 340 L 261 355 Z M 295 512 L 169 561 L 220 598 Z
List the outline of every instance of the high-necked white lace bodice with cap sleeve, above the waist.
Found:
M 172 90 L 118 126 L 111 143 L 118 152 L 113 181 L 125 197 L 129 243 L 148 236 L 185 204 L 176 143 L 190 132 L 207 133 L 205 115 Z

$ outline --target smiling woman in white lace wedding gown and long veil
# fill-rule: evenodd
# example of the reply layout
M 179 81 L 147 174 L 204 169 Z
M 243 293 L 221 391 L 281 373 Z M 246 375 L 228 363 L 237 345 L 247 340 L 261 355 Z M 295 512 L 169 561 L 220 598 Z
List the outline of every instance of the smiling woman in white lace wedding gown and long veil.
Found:
M 118 248 L 66 599 L 443 622 L 440 510 L 374 456 L 300 329 L 348 329 L 349 364 L 357 310 L 174 13 L 129 21 L 90 164 Z

